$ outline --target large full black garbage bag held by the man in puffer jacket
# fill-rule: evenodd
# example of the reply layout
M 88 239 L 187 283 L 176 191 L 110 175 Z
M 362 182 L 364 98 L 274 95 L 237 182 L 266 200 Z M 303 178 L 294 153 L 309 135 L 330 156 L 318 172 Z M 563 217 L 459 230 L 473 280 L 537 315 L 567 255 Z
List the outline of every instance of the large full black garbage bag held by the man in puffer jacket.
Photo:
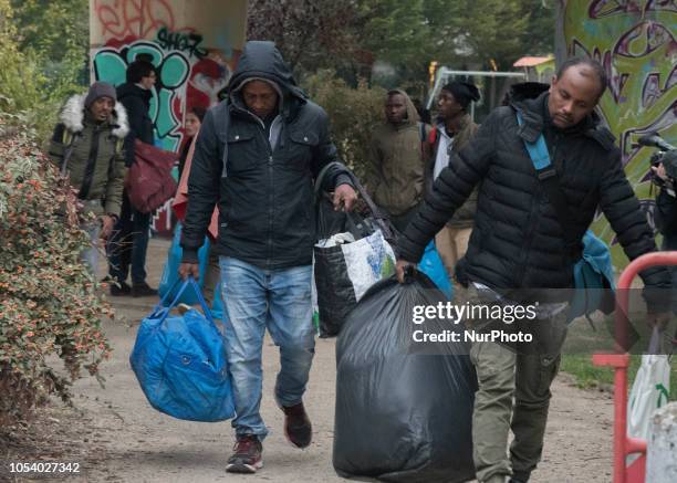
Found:
M 465 343 L 412 345 L 415 305 L 446 303 L 415 272 L 374 285 L 350 314 L 336 344 L 333 464 L 345 477 L 465 482 L 475 477 L 472 405 L 477 378 Z M 426 332 L 462 325 L 426 321 Z M 462 338 L 461 338 L 462 339 Z

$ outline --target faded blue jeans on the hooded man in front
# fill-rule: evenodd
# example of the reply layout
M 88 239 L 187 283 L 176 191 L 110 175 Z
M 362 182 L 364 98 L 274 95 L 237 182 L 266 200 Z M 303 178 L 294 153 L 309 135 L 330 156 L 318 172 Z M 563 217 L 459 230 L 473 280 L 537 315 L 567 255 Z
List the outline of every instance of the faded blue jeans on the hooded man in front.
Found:
M 221 256 L 225 342 L 239 434 L 263 440 L 268 429 L 259 412 L 263 370 L 261 350 L 265 327 L 280 347 L 275 382 L 278 406 L 301 402 L 315 354 L 312 324 L 311 265 L 263 270 Z

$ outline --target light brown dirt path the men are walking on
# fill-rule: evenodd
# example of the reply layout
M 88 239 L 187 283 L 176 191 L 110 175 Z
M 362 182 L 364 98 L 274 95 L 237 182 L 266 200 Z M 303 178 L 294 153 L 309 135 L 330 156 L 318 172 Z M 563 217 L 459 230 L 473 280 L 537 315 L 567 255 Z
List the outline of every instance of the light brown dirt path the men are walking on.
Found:
M 153 240 L 149 282 L 157 286 L 169 242 Z M 102 275 L 105 273 L 102 266 Z M 330 482 L 341 481 L 332 468 L 335 360 L 334 340 L 317 339 L 305 405 L 313 421 L 313 443 L 292 448 L 284 439 L 282 413 L 272 398 L 278 351 L 270 339 L 263 351 L 261 411 L 270 434 L 265 468 L 256 475 L 225 472 L 233 442 L 229 422 L 196 423 L 164 416 L 147 403 L 128 364 L 140 319 L 153 298 L 114 298 L 121 321 L 104 326 L 114 347 L 102 368 L 105 389 L 93 378 L 73 387 L 74 408 L 54 402 L 29 426 L 0 437 L 0 481 L 77 482 Z M 543 461 L 533 482 L 610 482 L 613 401 L 611 395 L 573 387 L 566 375 L 553 385 L 553 402 Z M 11 473 L 10 463 L 79 463 L 80 473 Z M 15 468 L 15 466 L 14 466 Z

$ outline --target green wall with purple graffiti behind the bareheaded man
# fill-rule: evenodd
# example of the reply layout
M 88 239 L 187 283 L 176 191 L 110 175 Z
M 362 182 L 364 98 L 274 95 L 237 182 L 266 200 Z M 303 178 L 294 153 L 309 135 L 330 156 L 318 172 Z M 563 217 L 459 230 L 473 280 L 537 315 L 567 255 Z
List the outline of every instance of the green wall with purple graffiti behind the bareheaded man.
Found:
M 654 150 L 637 147 L 637 138 L 657 132 L 677 144 L 677 1 L 567 0 L 561 12 L 566 55 L 594 57 L 606 70 L 610 88 L 601 114 L 635 192 L 647 202 L 655 195 L 648 176 Z M 593 229 L 612 243 L 616 267 L 625 265 L 608 222 L 601 217 Z

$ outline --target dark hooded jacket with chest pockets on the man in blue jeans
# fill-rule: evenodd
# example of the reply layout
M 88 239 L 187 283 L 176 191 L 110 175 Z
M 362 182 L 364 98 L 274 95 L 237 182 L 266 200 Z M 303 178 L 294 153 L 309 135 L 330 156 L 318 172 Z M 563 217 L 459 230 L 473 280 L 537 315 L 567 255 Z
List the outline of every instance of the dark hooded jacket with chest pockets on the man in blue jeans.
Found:
M 283 94 L 282 127 L 274 150 L 267 126 L 247 111 L 237 91 L 251 77 L 274 82 Z M 272 42 L 247 43 L 229 86 L 228 98 L 207 112 L 198 135 L 181 237 L 184 261 L 197 261 L 197 249 L 218 202 L 217 253 L 263 269 L 310 264 L 315 225 L 313 181 L 324 166 L 337 160 L 326 113 L 296 87 Z M 330 168 L 323 188 L 350 183 L 342 172 Z

